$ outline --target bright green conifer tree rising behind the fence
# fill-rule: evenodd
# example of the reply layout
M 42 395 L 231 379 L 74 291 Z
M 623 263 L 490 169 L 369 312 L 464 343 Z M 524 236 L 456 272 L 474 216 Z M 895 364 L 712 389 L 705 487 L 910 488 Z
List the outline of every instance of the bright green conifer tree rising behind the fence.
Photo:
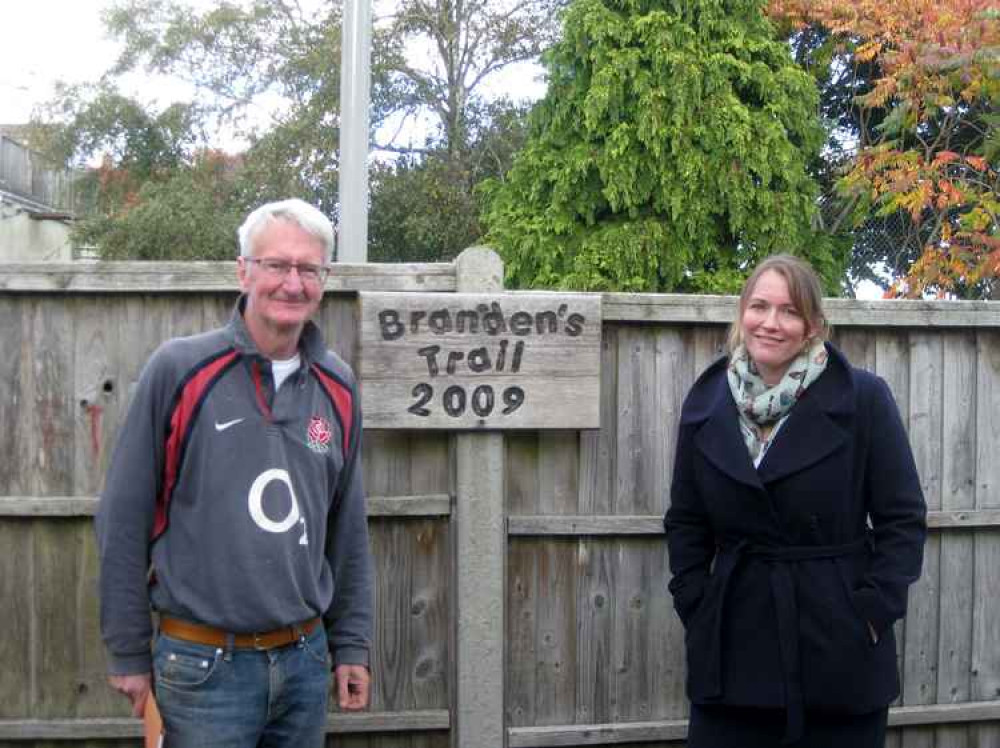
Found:
M 760 0 L 574 0 L 546 97 L 503 180 L 487 241 L 520 287 L 732 292 L 760 258 L 808 258 L 816 87 Z

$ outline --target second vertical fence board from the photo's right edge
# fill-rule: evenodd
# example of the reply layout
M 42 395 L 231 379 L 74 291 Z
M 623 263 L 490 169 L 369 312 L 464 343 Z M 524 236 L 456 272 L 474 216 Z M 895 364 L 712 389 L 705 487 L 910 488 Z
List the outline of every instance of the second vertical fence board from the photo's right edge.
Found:
M 975 507 L 976 338 L 970 331 L 944 335 L 942 392 L 941 507 L 971 510 Z M 960 530 L 941 537 L 940 637 L 936 701 L 967 702 L 972 698 L 972 607 L 975 556 L 973 533 Z M 966 748 L 966 726 L 936 730 L 937 745 Z

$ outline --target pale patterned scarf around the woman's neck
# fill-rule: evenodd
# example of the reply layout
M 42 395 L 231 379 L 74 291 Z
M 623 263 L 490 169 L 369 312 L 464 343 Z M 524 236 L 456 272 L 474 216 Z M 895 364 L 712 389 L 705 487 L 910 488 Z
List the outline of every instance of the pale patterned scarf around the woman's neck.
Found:
M 826 369 L 827 358 L 823 341 L 814 341 L 808 349 L 795 357 L 781 381 L 770 387 L 764 383 L 757 365 L 747 353 L 746 345 L 740 344 L 733 351 L 729 357 L 729 391 L 736 401 L 736 409 L 740 413 L 740 431 L 754 464 L 767 449 L 770 437 L 776 432 L 776 429 L 772 429 L 770 436 L 765 439 L 761 427 L 777 423 L 788 415 L 806 388 Z

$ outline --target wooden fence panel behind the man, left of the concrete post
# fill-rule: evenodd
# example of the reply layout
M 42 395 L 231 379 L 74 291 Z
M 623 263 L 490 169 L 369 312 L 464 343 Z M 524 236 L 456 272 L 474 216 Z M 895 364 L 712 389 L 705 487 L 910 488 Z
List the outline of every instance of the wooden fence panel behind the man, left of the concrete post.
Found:
M 8 456 L 0 461 L 0 746 L 139 742 L 125 700 L 106 684 L 95 497 L 142 366 L 163 341 L 223 324 L 237 294 L 226 279 L 231 264 L 109 268 L 0 269 L 0 288 L 16 289 L 0 291 L 0 343 L 16 352 L 0 362 L 0 448 Z M 205 287 L 192 290 L 185 275 Z M 424 288 L 428 278 L 441 285 L 442 277 L 437 266 L 397 269 L 388 280 L 363 269 L 360 279 L 345 275 L 342 286 L 382 289 Z M 59 290 L 74 281 L 89 288 Z M 33 290 L 35 283 L 48 287 Z M 159 288 L 135 292 L 141 284 Z M 318 320 L 351 363 L 355 290 L 329 294 Z M 449 436 L 379 431 L 365 439 L 377 675 L 371 710 L 331 714 L 336 744 L 444 748 L 451 743 Z

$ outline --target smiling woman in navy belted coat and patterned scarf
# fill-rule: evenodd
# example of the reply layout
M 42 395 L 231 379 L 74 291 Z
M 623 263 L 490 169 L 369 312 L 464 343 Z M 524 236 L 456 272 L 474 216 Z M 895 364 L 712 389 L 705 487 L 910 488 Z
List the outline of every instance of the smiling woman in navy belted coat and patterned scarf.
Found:
M 813 269 L 764 260 L 681 413 L 664 518 L 688 748 L 876 748 L 926 507 L 889 388 L 827 342 Z

